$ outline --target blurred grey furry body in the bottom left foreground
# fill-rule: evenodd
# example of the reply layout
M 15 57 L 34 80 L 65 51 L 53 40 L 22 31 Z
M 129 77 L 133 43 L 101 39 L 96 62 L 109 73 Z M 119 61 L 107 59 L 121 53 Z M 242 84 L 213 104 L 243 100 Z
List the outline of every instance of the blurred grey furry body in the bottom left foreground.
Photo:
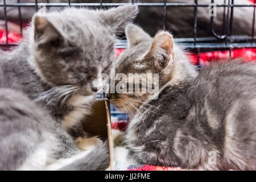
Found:
M 0 121 L 1 170 L 44 170 L 57 159 L 72 159 L 84 152 L 76 147 L 73 139 L 47 111 L 17 90 L 0 89 Z M 106 148 L 104 145 L 90 152 L 88 159 L 79 161 L 80 166 L 69 170 L 107 168 Z M 97 158 L 93 157 L 94 154 Z M 40 163 L 40 158 L 45 162 Z

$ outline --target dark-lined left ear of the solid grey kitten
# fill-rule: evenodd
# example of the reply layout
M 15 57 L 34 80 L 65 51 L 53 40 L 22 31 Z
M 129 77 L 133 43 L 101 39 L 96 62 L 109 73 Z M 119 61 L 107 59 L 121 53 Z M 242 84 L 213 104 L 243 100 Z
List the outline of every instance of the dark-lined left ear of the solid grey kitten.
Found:
M 35 15 L 32 22 L 35 42 L 39 44 L 51 43 L 50 45 L 54 47 L 60 46 L 63 40 L 62 36 L 45 16 Z

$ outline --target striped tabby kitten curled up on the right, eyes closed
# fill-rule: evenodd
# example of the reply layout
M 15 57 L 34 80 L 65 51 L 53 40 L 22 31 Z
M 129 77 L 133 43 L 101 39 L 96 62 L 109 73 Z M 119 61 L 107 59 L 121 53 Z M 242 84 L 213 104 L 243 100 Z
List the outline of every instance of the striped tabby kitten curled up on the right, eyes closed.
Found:
M 151 38 L 130 25 L 126 36 L 116 72 L 159 73 L 157 96 L 108 94 L 118 109 L 135 114 L 126 133 L 129 157 L 188 169 L 255 170 L 255 61 L 216 61 L 197 74 L 168 32 Z

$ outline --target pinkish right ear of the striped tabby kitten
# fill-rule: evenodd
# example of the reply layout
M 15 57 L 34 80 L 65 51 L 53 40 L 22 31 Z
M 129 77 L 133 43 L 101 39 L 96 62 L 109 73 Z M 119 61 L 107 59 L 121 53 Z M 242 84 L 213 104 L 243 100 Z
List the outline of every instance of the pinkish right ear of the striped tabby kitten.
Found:
M 161 31 L 155 35 L 152 46 L 144 57 L 157 71 L 167 67 L 174 56 L 174 41 L 172 35 Z

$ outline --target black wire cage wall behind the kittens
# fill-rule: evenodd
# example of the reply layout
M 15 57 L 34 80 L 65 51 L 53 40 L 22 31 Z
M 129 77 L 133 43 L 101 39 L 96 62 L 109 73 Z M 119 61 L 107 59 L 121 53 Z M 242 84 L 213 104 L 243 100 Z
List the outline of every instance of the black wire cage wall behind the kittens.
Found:
M 2 3 L 1 3 L 2 1 Z M 9 15 L 8 10 L 11 9 L 18 9 L 17 12 L 18 16 L 16 19 L 18 19 L 18 24 L 20 27 L 20 35 L 22 35 L 22 30 L 24 28 L 24 21 L 23 21 L 23 12 L 24 8 L 32 8 L 35 11 L 38 11 L 41 7 L 46 7 L 47 9 L 51 7 L 94 7 L 98 9 L 106 9 L 113 6 L 122 6 L 127 5 L 129 3 L 133 3 L 139 6 L 139 8 L 143 9 L 151 9 L 152 7 L 158 7 L 159 11 L 162 13 L 162 18 L 158 19 L 159 22 L 162 22 L 162 28 L 168 30 L 168 16 L 167 14 L 170 14 L 171 12 L 168 11 L 170 7 L 172 8 L 192 8 L 193 9 L 193 19 L 191 19 L 192 29 L 191 29 L 191 37 L 190 38 L 177 38 L 176 42 L 182 43 L 185 47 L 189 48 L 191 52 L 194 52 L 197 54 L 197 60 L 199 60 L 199 56 L 201 52 L 204 52 L 209 49 L 226 49 L 229 51 L 229 55 L 232 56 L 232 49 L 235 48 L 255 48 L 256 43 L 255 42 L 255 6 L 256 6 L 256 0 L 244 0 L 244 3 L 236 3 L 234 0 L 223 0 L 223 3 L 217 3 L 214 4 L 214 0 L 209 0 L 209 3 L 200 3 L 200 1 L 193 0 L 188 1 L 186 3 L 183 3 L 185 1 L 72 1 L 72 0 L 58 0 L 53 1 L 52 3 L 50 0 L 40 1 L 40 0 L 34 0 L 34 1 L 26 1 L 26 0 L 1 0 L 0 1 L 0 9 L 2 9 L 2 27 L 5 29 L 5 41 L 0 43 L 1 47 L 10 47 L 15 46 L 16 43 L 12 43 L 9 40 Z M 248 2 L 246 2 L 248 1 Z M 249 3 L 250 1 L 250 3 Z M 115 2 L 115 3 L 112 3 Z M 125 3 L 120 3 L 125 2 Z M 192 3 L 189 3 L 192 2 Z M 241 1 L 240 1 L 241 2 Z M 209 26 L 210 26 L 210 36 L 207 37 L 200 37 L 198 32 L 198 14 L 199 9 L 201 7 L 209 7 L 216 6 L 217 8 L 222 8 L 222 34 L 217 34 L 214 30 L 214 16 L 209 16 Z M 251 27 L 244 27 L 246 29 L 251 29 L 251 35 L 232 35 L 233 27 L 234 25 L 234 8 L 241 8 L 241 7 L 250 7 L 252 10 L 252 19 L 251 19 Z M 214 9 L 212 9 L 212 13 L 214 14 Z M 175 15 L 174 15 L 175 16 Z M 0 17 L 1 18 L 1 17 Z M 244 17 L 246 18 L 246 17 Z M 171 30 L 172 31 L 172 30 Z M 117 48 L 125 48 L 126 47 L 126 40 L 121 40 L 119 43 L 117 43 Z M 197 64 L 199 64 L 199 61 L 197 61 Z

